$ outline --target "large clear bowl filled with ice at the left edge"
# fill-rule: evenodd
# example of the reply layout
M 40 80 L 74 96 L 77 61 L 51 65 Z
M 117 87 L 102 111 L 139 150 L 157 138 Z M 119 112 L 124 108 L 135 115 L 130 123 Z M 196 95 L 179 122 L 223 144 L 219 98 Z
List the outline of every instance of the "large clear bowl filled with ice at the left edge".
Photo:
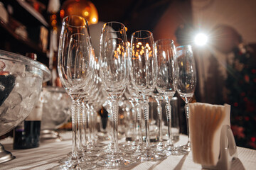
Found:
M 0 135 L 21 123 L 38 101 L 49 69 L 28 57 L 0 50 Z

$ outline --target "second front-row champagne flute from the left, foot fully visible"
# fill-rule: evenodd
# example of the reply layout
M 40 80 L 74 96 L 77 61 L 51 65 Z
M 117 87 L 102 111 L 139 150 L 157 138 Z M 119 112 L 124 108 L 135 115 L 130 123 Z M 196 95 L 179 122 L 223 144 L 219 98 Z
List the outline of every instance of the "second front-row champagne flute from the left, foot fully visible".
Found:
M 128 83 L 127 35 L 125 26 L 118 22 L 105 23 L 100 36 L 100 79 L 112 101 L 112 143 L 114 150 L 100 159 L 97 165 L 107 168 L 128 166 L 134 161 L 122 157 L 118 148 L 118 100 Z

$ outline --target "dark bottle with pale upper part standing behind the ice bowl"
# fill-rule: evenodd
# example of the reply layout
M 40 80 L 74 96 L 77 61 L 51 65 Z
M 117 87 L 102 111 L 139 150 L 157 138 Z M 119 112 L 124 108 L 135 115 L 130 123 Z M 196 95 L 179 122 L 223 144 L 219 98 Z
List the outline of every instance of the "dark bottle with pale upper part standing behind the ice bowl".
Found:
M 36 60 L 36 54 L 30 53 L 27 56 Z M 40 97 L 28 117 L 14 128 L 14 149 L 39 147 L 42 109 L 43 102 Z

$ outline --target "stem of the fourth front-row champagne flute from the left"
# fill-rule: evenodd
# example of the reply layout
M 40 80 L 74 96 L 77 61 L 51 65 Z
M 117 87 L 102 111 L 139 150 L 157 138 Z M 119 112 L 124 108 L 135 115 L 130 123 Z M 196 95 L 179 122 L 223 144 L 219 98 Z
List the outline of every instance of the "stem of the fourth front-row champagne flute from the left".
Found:
M 167 125 L 168 125 L 168 145 L 174 146 L 172 139 L 171 139 L 171 104 L 168 96 L 165 96 L 166 100 L 166 119 L 167 119 Z

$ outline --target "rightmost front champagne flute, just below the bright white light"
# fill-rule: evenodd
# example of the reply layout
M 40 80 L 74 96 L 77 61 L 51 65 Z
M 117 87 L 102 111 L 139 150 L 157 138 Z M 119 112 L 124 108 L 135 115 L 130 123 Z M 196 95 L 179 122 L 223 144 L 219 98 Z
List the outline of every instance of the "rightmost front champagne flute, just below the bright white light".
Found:
M 196 89 L 196 64 L 191 45 L 176 47 L 176 52 L 176 90 L 178 91 L 178 94 L 181 96 L 183 101 L 185 101 L 185 113 L 188 132 L 188 142 L 186 145 L 181 146 L 180 149 L 185 152 L 190 152 L 191 142 L 188 129 L 188 102 L 193 97 L 194 91 Z

